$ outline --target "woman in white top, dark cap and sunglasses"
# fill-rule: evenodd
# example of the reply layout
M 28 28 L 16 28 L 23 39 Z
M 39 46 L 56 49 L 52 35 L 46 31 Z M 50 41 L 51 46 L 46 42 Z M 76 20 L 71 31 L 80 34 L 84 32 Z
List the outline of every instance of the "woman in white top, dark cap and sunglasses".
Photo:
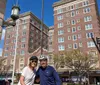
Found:
M 32 56 L 29 59 L 29 65 L 23 69 L 18 85 L 34 84 L 34 79 L 36 74 L 35 67 L 37 66 L 37 63 L 38 63 L 38 58 L 36 56 Z

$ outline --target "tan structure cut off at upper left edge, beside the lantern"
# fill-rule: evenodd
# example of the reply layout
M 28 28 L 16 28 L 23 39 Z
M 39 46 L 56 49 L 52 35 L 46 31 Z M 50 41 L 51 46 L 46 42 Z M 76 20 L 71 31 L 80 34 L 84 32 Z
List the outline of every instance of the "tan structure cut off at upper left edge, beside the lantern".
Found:
M 0 25 L 2 24 L 2 19 L 4 18 L 5 8 L 7 0 L 0 0 Z M 2 34 L 2 28 L 0 26 L 0 39 Z

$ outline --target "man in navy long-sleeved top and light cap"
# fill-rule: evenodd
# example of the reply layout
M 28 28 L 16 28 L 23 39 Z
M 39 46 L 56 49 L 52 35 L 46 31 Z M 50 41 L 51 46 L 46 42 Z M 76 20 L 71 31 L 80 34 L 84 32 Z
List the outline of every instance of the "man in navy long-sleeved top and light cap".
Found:
M 47 57 L 41 56 L 39 60 L 40 67 L 36 73 L 36 80 L 40 78 L 40 85 L 61 85 L 59 75 L 52 66 L 48 65 Z

